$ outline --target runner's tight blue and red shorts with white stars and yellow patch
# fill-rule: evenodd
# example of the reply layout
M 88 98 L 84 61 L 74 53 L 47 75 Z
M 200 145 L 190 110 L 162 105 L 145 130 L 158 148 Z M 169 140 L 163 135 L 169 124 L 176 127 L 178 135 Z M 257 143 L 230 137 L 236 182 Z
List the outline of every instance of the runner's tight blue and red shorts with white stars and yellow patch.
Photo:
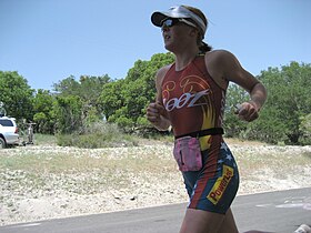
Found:
M 239 189 L 239 171 L 225 142 L 215 141 L 202 151 L 202 169 L 182 175 L 190 197 L 189 209 L 225 214 Z

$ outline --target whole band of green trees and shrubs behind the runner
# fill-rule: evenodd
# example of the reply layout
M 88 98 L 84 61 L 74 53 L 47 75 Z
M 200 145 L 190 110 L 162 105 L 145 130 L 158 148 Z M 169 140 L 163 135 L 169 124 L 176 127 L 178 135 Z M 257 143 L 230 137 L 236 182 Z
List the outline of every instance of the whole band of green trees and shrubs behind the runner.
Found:
M 71 75 L 54 83 L 51 91 L 31 89 L 17 71 L 0 71 L 0 101 L 21 130 L 22 122 L 34 122 L 36 133 L 56 134 L 61 145 L 106 146 L 104 141 L 113 141 L 107 138 L 107 130 L 111 129 L 104 126 L 107 123 L 129 134 L 157 136 L 159 132 L 144 116 L 146 108 L 156 98 L 157 70 L 172 61 L 171 53 L 158 53 L 150 61 L 138 60 L 124 79 Z M 248 100 L 248 93 L 231 84 L 227 93 L 225 136 L 272 144 L 310 144 L 310 77 L 311 65 L 294 61 L 261 71 L 257 78 L 269 95 L 260 119 L 252 123 L 238 121 L 232 114 L 237 103 Z

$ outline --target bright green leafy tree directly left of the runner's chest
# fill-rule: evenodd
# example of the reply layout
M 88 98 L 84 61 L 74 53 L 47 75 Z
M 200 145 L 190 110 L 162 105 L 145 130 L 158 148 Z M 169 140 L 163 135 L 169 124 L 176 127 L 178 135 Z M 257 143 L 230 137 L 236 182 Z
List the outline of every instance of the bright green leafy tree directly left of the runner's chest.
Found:
M 127 131 L 150 126 L 144 114 L 147 105 L 156 99 L 156 73 L 172 62 L 171 53 L 154 54 L 150 61 L 138 60 L 124 80 L 106 85 L 100 100 L 107 120 Z

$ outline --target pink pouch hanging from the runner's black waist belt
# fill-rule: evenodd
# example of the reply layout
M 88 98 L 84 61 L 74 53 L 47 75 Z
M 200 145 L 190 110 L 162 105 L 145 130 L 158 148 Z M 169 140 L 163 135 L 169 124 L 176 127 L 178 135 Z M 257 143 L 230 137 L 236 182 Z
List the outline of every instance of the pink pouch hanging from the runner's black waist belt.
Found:
M 183 136 L 177 139 L 173 154 L 180 171 L 190 172 L 202 169 L 202 154 L 197 138 Z

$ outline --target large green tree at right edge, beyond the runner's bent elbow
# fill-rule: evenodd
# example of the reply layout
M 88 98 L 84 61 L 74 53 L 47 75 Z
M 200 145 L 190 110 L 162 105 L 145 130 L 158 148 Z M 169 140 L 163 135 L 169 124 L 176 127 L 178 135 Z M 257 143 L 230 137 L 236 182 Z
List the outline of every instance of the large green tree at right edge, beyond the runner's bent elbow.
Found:
M 311 113 L 310 77 L 311 65 L 298 62 L 262 71 L 268 101 L 260 119 L 249 125 L 249 134 L 271 143 L 299 144 L 303 119 Z

